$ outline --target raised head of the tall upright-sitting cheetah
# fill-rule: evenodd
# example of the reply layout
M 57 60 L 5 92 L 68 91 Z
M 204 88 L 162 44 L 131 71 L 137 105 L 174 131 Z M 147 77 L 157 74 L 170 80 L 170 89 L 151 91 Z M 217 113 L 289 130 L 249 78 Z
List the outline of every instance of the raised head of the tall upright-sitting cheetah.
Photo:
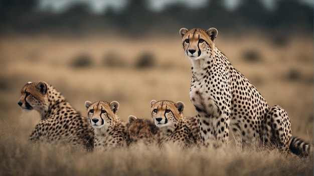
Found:
M 214 48 L 214 40 L 218 30 L 214 27 L 208 30 L 193 28 L 181 28 L 182 44 L 185 54 L 192 60 L 204 59 L 211 56 L 211 49 Z

